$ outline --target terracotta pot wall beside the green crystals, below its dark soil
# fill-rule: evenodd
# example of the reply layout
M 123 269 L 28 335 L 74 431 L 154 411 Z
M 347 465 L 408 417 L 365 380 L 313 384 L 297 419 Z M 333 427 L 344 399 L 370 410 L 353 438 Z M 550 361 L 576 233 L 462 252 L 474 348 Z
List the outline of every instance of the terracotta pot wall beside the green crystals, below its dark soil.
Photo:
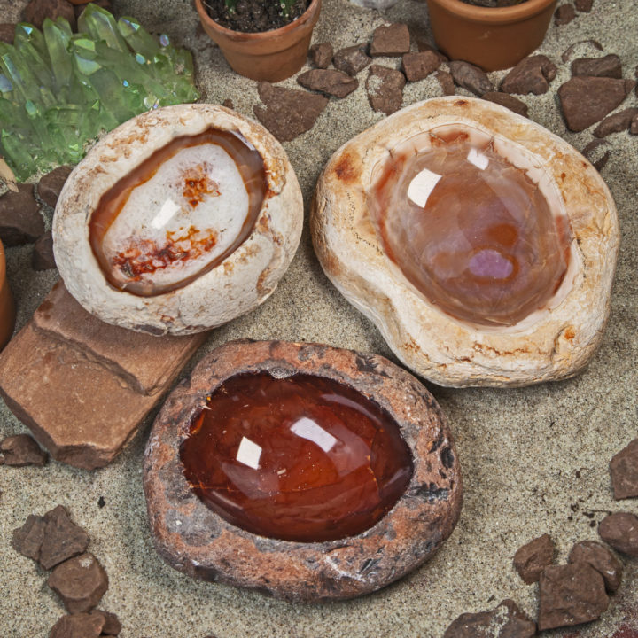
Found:
M 233 71 L 252 80 L 279 82 L 304 65 L 321 0 L 313 0 L 307 12 L 285 27 L 261 33 L 231 31 L 208 15 L 202 0 L 195 0 L 195 7 L 202 27 L 219 45 Z

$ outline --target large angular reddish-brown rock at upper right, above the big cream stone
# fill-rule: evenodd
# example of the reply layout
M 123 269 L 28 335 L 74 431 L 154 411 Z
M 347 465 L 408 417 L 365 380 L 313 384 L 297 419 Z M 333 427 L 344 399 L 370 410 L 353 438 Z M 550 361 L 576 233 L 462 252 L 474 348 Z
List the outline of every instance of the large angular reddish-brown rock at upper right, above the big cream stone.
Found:
M 581 131 L 601 121 L 627 97 L 634 83 L 608 77 L 572 77 L 558 89 L 567 127 Z

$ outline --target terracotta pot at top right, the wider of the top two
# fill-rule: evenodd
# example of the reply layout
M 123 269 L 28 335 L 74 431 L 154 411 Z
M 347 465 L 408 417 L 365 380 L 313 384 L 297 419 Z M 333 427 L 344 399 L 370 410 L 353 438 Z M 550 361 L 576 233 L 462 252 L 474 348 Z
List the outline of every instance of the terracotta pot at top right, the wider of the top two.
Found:
M 427 5 L 441 51 L 451 59 L 495 71 L 515 66 L 541 44 L 556 0 L 526 0 L 502 8 L 461 0 L 427 0 Z

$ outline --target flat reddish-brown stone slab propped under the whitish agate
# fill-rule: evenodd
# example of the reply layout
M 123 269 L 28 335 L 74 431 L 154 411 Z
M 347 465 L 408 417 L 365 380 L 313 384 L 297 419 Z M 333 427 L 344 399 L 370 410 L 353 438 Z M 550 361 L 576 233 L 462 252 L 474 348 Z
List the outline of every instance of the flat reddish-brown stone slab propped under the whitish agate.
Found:
M 204 338 L 155 338 L 108 325 L 58 284 L 0 355 L 0 393 L 55 459 L 101 467 Z

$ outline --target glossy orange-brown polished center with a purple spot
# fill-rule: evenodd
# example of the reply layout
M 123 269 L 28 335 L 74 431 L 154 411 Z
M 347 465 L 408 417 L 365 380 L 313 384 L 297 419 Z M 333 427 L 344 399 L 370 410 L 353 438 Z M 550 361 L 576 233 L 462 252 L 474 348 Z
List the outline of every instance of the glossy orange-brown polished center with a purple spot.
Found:
M 467 137 L 432 136 L 424 152 L 393 154 L 368 205 L 385 253 L 432 304 L 465 322 L 510 326 L 562 284 L 569 222 L 525 170 Z M 408 188 L 424 169 L 438 179 L 419 206 Z

